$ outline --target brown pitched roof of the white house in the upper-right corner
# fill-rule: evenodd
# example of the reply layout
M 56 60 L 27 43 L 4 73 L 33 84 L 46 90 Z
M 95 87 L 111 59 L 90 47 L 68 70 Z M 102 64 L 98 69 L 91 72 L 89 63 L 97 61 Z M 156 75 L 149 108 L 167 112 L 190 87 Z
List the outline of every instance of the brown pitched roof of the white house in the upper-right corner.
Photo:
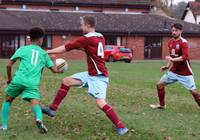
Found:
M 182 19 L 185 18 L 188 9 L 192 11 L 194 17 L 196 18 L 197 15 L 200 15 L 200 2 L 194 2 L 194 1 L 188 2 L 188 5 L 186 6 L 186 9 L 183 13 Z

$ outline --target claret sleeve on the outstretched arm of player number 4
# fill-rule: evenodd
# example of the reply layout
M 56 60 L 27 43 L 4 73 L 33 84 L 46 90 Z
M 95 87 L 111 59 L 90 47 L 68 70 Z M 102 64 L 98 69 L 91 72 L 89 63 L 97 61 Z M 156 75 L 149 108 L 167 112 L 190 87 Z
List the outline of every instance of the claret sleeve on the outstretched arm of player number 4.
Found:
M 86 47 L 88 44 L 87 37 L 80 37 L 78 40 L 74 41 L 73 43 L 69 43 L 65 45 L 66 51 L 70 51 L 73 49 L 80 49 Z

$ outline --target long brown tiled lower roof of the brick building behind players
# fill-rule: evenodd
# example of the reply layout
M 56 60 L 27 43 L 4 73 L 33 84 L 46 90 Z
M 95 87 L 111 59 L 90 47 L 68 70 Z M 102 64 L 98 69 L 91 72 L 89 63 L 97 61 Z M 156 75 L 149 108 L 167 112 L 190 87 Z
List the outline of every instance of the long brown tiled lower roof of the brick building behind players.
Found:
M 43 27 L 47 33 L 79 33 L 80 17 L 93 15 L 97 18 L 96 30 L 108 34 L 169 35 L 173 23 L 184 25 L 184 33 L 200 36 L 200 26 L 151 14 L 111 14 L 83 12 L 41 12 L 0 10 L 0 33 L 24 32 L 34 26 Z

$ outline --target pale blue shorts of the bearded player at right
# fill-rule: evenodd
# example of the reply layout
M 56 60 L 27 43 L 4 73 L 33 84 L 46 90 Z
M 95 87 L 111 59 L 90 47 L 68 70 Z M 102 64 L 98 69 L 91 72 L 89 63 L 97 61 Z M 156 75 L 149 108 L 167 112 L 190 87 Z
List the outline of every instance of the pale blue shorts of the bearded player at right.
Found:
M 168 71 L 161 77 L 160 82 L 165 83 L 165 84 L 180 82 L 188 90 L 196 89 L 193 75 L 183 76 L 183 75 L 178 75 L 174 72 Z

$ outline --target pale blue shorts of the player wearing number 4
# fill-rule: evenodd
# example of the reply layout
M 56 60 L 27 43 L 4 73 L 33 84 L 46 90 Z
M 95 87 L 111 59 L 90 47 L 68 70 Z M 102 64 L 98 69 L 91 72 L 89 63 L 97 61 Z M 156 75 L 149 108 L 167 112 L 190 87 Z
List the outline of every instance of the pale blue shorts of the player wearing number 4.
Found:
M 108 77 L 104 75 L 90 76 L 88 72 L 80 72 L 72 75 L 73 78 L 81 80 L 81 87 L 88 87 L 88 94 L 97 98 L 105 99 L 109 83 Z

